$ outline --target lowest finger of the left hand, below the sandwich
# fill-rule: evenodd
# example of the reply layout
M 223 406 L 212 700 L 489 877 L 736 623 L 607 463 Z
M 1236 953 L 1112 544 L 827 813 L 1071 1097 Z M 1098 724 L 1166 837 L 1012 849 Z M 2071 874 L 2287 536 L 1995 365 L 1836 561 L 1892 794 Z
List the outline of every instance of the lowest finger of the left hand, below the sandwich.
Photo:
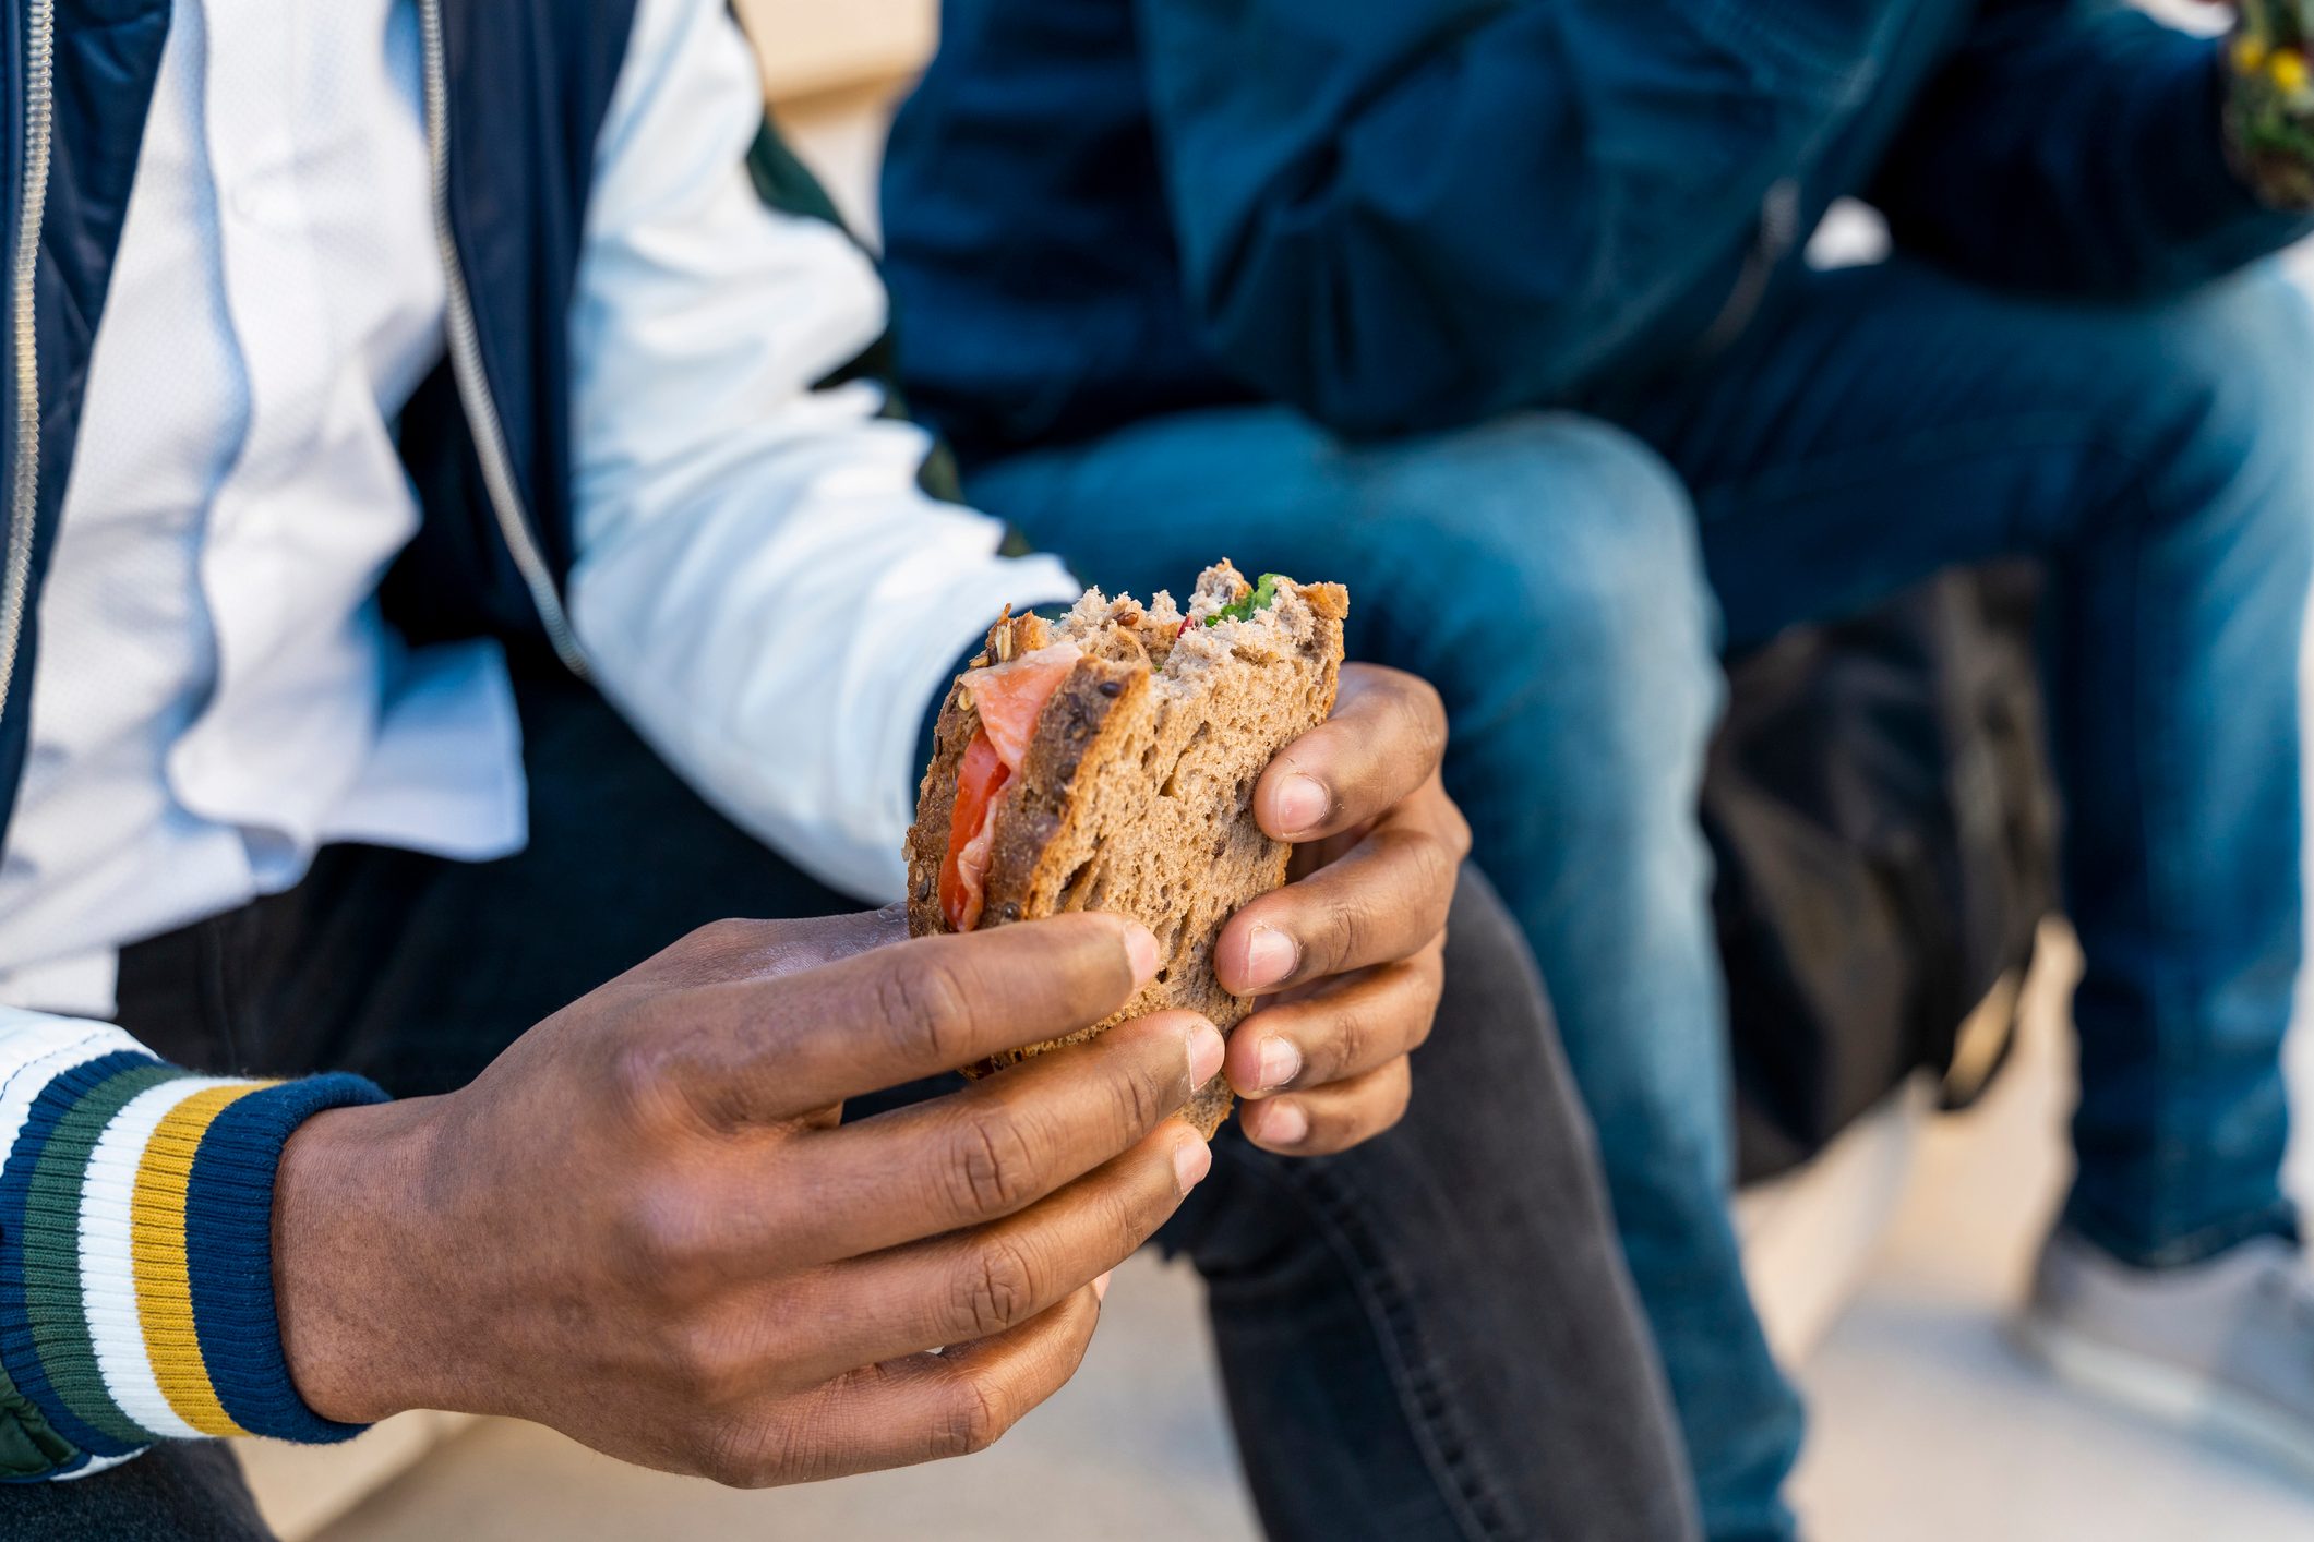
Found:
M 849 1371 L 768 1403 L 701 1466 L 761 1489 L 983 1452 L 1076 1376 L 1099 1315 L 1088 1288 L 1009 1334 Z

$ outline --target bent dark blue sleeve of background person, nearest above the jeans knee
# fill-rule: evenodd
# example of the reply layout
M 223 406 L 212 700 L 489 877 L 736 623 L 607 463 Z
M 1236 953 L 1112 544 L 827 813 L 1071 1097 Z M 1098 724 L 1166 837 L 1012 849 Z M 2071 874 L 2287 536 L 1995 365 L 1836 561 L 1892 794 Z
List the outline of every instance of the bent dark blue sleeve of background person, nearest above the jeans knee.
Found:
M 1550 400 L 1733 280 L 1766 190 L 1856 90 L 1891 9 L 1148 0 L 1206 342 L 1349 432 Z

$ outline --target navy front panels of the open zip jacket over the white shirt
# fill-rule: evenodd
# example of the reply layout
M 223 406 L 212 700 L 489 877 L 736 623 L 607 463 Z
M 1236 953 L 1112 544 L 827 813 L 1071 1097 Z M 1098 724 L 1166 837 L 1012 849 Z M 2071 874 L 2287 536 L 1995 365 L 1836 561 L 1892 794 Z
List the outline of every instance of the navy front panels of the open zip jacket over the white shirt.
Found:
M 400 615 L 419 636 L 500 631 L 537 636 L 541 608 L 572 562 L 569 502 L 569 303 L 576 284 L 595 139 L 634 28 L 634 0 L 421 0 L 440 25 L 428 65 L 440 65 L 447 113 L 447 213 L 456 268 L 472 296 L 472 344 L 488 381 L 488 409 L 470 412 L 451 365 L 403 414 L 403 455 L 426 527 L 398 576 Z M 21 631 L 0 700 L 0 823 L 16 800 L 28 742 L 32 659 L 39 647 L 39 580 L 56 546 L 65 479 L 79 439 L 88 354 L 104 317 L 146 109 L 169 32 L 171 0 L 56 0 L 46 197 L 28 206 L 39 146 L 39 55 L 32 0 L 0 0 L 5 111 L 0 111 L 0 257 L 16 275 L 35 247 L 32 358 L 23 358 L 19 291 L 7 287 L 9 356 L 0 414 L 0 541 L 25 576 Z M 440 46 L 433 46 L 440 44 Z M 28 222 L 28 215 L 37 220 Z M 37 224 L 37 231 L 35 231 Z M 458 331 L 454 319 L 454 333 Z M 28 372 L 37 398 L 19 386 Z M 477 398 L 479 400 L 479 398 Z M 19 444 L 19 414 L 37 407 L 37 458 Z M 504 444 L 511 499 L 484 485 L 474 418 Z M 35 469 L 37 476 L 25 476 Z M 16 548 L 12 516 L 23 483 L 32 525 Z M 37 485 L 35 485 L 37 483 Z M 509 506 L 511 504 L 511 506 Z M 516 562 L 502 525 L 516 518 L 535 548 Z M 28 557 L 28 562 L 23 562 Z M 0 636 L 0 650 L 7 640 Z

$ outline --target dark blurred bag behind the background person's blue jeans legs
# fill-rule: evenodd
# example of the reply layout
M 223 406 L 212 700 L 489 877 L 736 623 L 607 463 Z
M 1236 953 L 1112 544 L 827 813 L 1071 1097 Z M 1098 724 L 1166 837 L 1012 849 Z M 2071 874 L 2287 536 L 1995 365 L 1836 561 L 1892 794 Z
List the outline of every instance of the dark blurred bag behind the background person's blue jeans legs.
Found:
M 2022 564 L 1951 573 L 1729 663 L 1703 823 L 1747 1181 L 1946 1075 L 1978 1003 L 2013 1015 L 2057 906 L 2034 592 Z

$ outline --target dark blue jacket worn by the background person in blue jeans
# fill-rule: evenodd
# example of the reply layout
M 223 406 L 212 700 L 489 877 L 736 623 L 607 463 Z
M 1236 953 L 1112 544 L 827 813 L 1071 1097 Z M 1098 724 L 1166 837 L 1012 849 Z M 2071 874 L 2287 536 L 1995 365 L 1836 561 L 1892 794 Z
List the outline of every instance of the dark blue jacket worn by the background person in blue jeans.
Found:
M 2302 229 L 2219 102 L 2212 42 L 2103 0 L 946 0 L 886 164 L 902 370 L 967 460 L 1580 402 L 1840 194 L 1988 284 L 2177 289 Z

